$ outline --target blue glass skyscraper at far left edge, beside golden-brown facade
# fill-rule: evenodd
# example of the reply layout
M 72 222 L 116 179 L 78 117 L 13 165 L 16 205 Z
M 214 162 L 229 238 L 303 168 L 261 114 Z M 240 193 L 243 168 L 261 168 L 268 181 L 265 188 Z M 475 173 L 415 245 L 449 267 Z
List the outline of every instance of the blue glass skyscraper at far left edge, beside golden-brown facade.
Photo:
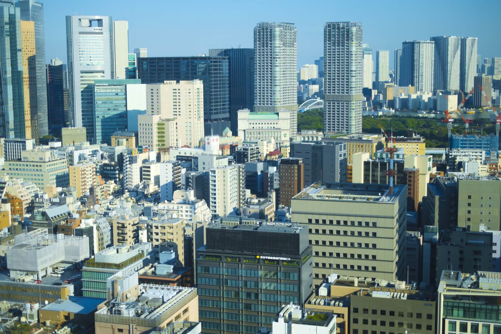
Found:
M 25 138 L 25 108 L 23 94 L 23 57 L 21 19 L 14 0 L 0 1 L 0 17 L 5 25 L 0 27 L 0 68 L 2 71 L 3 111 L 0 117 L 0 138 Z

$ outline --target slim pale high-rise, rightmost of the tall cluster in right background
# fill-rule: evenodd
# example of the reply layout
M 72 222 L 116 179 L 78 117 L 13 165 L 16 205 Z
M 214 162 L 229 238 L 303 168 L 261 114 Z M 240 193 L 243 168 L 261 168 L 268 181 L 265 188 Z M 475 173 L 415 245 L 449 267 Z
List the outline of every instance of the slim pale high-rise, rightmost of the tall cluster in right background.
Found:
M 461 38 L 461 57 L 459 61 L 459 89 L 466 93 L 473 86 L 473 78 L 476 75 L 476 60 L 477 60 L 477 42 L 476 37 Z

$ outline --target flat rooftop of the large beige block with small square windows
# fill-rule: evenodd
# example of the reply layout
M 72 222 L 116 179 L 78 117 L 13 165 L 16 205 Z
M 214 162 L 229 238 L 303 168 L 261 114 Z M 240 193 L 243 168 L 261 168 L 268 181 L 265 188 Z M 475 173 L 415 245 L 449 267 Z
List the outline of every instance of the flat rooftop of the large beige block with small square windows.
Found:
M 394 185 L 393 194 L 390 194 L 390 186 L 387 184 L 316 182 L 294 196 L 293 199 L 395 203 L 405 187 Z

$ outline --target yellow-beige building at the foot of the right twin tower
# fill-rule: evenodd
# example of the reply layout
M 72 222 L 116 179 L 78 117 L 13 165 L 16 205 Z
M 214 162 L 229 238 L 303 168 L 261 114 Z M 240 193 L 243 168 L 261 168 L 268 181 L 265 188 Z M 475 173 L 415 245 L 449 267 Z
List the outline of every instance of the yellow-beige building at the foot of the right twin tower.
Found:
M 374 152 L 384 148 L 384 137 L 378 134 L 351 134 L 347 136 L 333 136 L 332 138 L 324 138 L 325 141 L 335 141 L 346 143 L 348 165 L 353 162 L 353 154 L 358 152 L 368 152 L 370 157 Z

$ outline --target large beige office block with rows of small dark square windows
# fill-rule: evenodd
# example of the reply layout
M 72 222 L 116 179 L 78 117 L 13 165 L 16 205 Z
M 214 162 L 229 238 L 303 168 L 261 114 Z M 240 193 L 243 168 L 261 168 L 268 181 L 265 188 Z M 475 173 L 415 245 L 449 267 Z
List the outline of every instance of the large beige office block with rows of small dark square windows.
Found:
M 392 281 L 405 275 L 407 187 L 317 182 L 291 200 L 310 228 L 314 284 L 330 273 Z

